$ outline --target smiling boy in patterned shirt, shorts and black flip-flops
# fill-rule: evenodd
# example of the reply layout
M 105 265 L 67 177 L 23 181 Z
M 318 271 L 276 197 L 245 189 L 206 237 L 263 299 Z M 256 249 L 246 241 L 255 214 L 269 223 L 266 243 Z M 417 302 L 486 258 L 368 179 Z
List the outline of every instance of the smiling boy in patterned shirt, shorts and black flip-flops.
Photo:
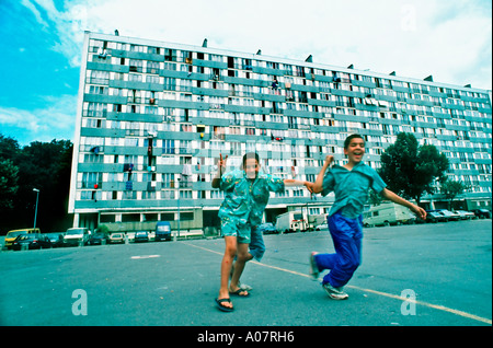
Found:
M 259 154 L 246 153 L 243 156 L 242 170 L 234 170 L 221 176 L 226 170 L 226 160 L 220 154 L 219 171 L 213 179 L 213 187 L 225 192 L 225 200 L 219 209 L 221 234 L 225 237 L 226 250 L 221 263 L 221 282 L 216 303 L 219 310 L 233 310 L 229 294 L 248 297 L 246 290 L 239 288 L 238 282 L 244 265 L 252 259 L 249 253 L 251 230 L 262 223 L 262 216 L 267 206 L 271 192 L 284 192 L 285 186 L 311 186 L 311 183 L 297 179 L 282 179 L 270 174 L 259 173 L 261 169 Z M 237 262 L 231 282 L 229 275 L 234 255 Z

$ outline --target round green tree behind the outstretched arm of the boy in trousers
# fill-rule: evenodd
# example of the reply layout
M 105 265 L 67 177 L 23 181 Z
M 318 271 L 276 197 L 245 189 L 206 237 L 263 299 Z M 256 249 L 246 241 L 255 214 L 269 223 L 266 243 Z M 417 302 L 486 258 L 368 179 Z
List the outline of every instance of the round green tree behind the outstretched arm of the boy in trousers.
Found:
M 380 158 L 379 174 L 390 190 L 417 204 L 426 192 L 433 194 L 434 181 L 445 181 L 448 159 L 435 146 L 419 146 L 414 135 L 401 132 Z

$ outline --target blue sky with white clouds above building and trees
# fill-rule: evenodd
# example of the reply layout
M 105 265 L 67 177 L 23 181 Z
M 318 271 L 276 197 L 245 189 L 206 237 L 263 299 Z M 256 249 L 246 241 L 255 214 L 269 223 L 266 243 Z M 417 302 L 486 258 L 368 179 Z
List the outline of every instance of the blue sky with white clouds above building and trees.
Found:
M 492 89 L 490 0 L 0 0 L 0 134 L 73 141 L 83 31 Z

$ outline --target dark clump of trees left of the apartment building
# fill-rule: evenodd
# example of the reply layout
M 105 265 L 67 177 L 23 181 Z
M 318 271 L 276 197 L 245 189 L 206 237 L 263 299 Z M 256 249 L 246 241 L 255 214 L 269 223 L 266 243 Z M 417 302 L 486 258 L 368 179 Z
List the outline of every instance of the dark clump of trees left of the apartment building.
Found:
M 0 135 L 0 231 L 25 228 L 34 222 L 39 189 L 37 222 L 42 231 L 65 231 L 70 224 L 68 195 L 72 143 L 68 140 L 34 141 L 19 147 Z M 5 208 L 5 209 L 4 209 Z

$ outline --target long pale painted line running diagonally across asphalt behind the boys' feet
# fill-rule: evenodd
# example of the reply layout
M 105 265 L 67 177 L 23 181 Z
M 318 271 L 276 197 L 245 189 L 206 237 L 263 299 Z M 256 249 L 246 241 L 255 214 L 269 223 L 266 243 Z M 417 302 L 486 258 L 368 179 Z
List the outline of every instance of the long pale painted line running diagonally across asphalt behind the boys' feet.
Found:
M 203 246 L 193 245 L 193 244 L 190 244 L 190 243 L 186 243 L 186 242 L 183 242 L 183 243 L 186 244 L 186 245 L 193 246 L 193 247 L 200 248 L 200 250 L 209 252 L 209 253 L 222 255 L 222 253 L 219 253 L 219 252 L 216 252 L 216 251 L 203 247 Z M 262 263 L 259 263 L 256 260 L 251 260 L 250 263 L 259 265 L 259 266 L 263 266 L 263 267 L 280 270 L 280 271 L 284 271 L 284 272 L 293 274 L 293 275 L 296 275 L 296 276 L 310 278 L 309 275 L 301 274 L 301 272 L 296 271 L 296 270 L 290 270 L 290 269 L 286 269 L 286 268 L 282 268 L 282 267 L 277 267 L 277 266 L 262 264 Z M 378 295 L 381 295 L 381 297 L 386 297 L 386 298 L 389 298 L 389 299 L 413 302 L 413 303 L 419 304 L 419 305 L 427 306 L 427 308 L 431 308 L 431 309 L 434 309 L 434 310 L 438 310 L 438 311 L 444 311 L 444 312 L 447 312 L 447 313 L 451 313 L 451 314 L 455 314 L 455 315 L 459 315 L 459 316 L 462 316 L 462 317 L 467 317 L 467 318 L 470 318 L 470 320 L 473 320 L 473 321 L 478 321 L 478 322 L 482 322 L 482 323 L 492 325 L 492 320 L 491 318 L 478 316 L 478 315 L 474 315 L 474 314 L 471 314 L 471 313 L 467 313 L 467 312 L 463 312 L 463 311 L 449 309 L 449 308 L 446 308 L 444 305 L 427 303 L 427 302 L 417 301 L 417 300 L 411 300 L 411 299 L 403 298 L 403 297 L 400 297 L 400 295 L 397 295 L 397 294 L 382 292 L 382 291 L 377 291 L 377 290 L 371 290 L 371 289 L 366 289 L 366 288 L 360 288 L 360 287 L 356 287 L 356 286 L 346 286 L 346 288 L 351 288 L 351 289 L 355 289 L 355 290 L 364 291 L 364 292 L 375 293 L 375 294 L 378 294 Z

